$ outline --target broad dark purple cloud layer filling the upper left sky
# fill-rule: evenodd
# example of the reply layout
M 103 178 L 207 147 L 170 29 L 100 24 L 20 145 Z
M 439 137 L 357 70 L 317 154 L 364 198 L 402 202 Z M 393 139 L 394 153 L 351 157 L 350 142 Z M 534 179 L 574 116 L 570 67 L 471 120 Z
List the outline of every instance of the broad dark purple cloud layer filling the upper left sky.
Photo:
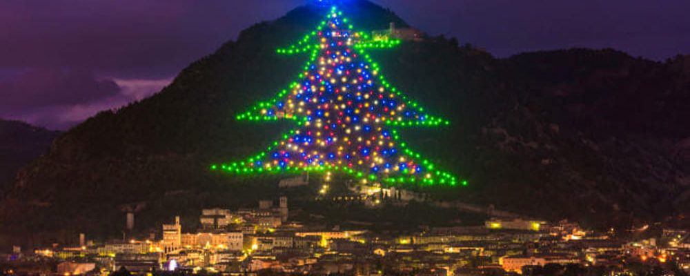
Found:
M 0 3 L 0 68 L 69 66 L 128 78 L 175 75 L 253 23 L 302 0 Z

